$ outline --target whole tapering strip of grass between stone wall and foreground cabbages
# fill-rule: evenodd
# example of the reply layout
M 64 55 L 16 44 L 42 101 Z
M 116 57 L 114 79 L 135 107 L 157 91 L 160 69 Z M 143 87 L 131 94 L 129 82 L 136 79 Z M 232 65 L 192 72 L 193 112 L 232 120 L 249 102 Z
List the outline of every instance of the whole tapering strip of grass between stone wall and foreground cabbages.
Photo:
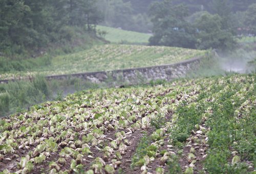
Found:
M 106 88 L 107 83 L 95 84 L 78 78 L 47 81 L 42 76 L 0 84 L 0 117 L 26 112 L 32 105 L 45 101 L 62 100 L 77 91 Z

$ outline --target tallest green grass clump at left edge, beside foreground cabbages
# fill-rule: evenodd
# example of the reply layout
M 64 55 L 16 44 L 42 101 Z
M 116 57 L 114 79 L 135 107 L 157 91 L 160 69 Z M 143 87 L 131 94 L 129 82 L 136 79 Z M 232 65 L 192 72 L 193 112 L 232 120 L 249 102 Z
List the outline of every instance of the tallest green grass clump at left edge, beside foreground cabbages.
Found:
M 44 77 L 0 85 L 0 116 L 25 110 L 32 104 L 50 99 L 51 91 Z

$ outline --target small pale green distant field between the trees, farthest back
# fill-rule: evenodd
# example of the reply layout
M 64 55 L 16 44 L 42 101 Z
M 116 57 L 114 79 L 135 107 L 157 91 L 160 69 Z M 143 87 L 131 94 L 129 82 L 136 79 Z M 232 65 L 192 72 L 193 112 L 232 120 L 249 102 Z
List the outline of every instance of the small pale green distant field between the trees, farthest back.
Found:
M 116 29 L 112 27 L 97 26 L 97 30 L 105 31 L 105 39 L 112 43 L 128 42 L 131 44 L 147 44 L 151 34 L 139 33 L 134 31 L 127 31 Z

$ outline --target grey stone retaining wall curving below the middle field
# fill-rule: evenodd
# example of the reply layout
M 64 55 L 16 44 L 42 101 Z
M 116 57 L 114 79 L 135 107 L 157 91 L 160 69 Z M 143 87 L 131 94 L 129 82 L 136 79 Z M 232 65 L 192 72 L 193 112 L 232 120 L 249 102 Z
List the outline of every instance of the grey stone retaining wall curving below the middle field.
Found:
M 70 75 L 47 76 L 51 79 L 66 79 L 70 77 L 81 78 L 93 83 L 104 81 L 122 81 L 127 83 L 148 82 L 151 80 L 172 80 L 183 77 L 189 70 L 197 69 L 200 58 L 194 58 L 174 64 L 165 64 L 162 66 L 134 68 L 114 71 L 100 71 L 90 73 L 79 73 Z

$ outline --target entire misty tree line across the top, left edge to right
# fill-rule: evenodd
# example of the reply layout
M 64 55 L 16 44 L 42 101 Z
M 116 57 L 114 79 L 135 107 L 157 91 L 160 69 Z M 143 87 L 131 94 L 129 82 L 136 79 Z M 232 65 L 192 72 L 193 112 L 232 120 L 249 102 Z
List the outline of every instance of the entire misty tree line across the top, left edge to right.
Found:
M 255 35 L 256 5 L 252 3 L 252 0 L 0 0 L 0 56 L 3 52 L 19 54 L 49 47 L 51 43 L 69 42 L 77 33 L 72 27 L 95 33 L 97 24 L 152 32 L 151 45 L 231 48 L 237 34 Z

